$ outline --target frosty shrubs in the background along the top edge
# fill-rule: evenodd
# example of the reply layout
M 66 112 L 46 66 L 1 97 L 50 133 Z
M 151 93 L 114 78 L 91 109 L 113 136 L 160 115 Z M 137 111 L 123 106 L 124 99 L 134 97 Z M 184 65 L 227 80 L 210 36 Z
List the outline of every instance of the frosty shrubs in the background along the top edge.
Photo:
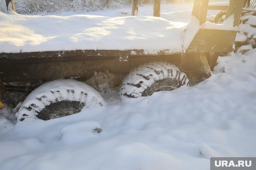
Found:
M 188 2 L 192 0 L 162 0 L 162 2 Z M 89 12 L 131 6 L 131 0 L 14 0 L 19 14 L 61 12 Z M 139 0 L 139 4 L 153 4 L 154 0 Z M 7 13 L 5 0 L 0 0 L 0 12 Z

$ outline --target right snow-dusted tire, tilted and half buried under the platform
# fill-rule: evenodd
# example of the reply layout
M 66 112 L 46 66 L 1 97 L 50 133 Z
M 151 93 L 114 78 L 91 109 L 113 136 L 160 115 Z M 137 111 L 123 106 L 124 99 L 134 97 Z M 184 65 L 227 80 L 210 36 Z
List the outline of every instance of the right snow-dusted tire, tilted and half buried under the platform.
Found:
M 183 85 L 189 85 L 185 73 L 165 61 L 152 61 L 133 68 L 119 86 L 118 95 L 140 97 L 149 96 L 156 91 L 173 90 Z

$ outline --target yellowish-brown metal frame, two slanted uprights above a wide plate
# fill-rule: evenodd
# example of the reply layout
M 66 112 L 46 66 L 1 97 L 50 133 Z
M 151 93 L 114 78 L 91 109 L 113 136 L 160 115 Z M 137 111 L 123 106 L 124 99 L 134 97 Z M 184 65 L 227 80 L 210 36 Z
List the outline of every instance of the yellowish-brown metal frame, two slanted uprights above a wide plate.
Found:
M 206 21 L 209 0 L 195 0 L 192 16 L 200 25 Z M 226 18 L 234 15 L 234 27 L 238 26 L 244 0 L 230 0 Z M 186 53 L 231 52 L 237 31 L 199 29 Z

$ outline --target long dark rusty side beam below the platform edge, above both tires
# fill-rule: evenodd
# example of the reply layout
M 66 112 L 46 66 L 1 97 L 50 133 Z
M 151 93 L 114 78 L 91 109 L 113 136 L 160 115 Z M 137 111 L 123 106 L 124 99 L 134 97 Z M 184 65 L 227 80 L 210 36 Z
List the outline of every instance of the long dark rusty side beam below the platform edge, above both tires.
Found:
M 119 56 L 65 56 L 45 58 L 8 59 L 0 58 L 0 78 L 3 82 L 45 80 L 85 76 L 90 78 L 94 71 L 109 70 L 111 73 L 126 74 L 140 63 L 164 60 L 179 65 L 179 54 L 128 55 L 126 61 Z

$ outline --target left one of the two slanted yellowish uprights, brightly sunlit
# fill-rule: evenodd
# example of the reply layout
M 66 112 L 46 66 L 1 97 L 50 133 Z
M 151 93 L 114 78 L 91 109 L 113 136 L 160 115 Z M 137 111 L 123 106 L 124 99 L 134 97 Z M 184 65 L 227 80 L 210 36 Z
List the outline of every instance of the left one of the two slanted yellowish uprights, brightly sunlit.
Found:
M 209 0 L 195 0 L 192 15 L 195 16 L 200 25 L 205 23 Z

